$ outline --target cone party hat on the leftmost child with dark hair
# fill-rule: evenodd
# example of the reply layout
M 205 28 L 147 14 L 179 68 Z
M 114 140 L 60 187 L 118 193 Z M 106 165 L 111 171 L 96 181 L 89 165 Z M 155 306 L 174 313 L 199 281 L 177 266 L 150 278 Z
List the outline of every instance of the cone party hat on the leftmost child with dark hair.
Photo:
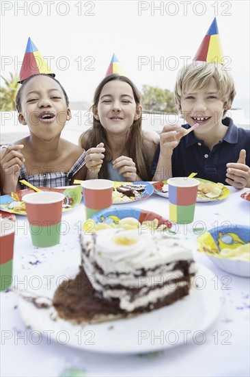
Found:
M 22 84 L 28 77 L 38 75 L 39 73 L 55 77 L 55 74 L 51 71 L 37 47 L 33 44 L 31 38 L 29 38 L 18 82 Z

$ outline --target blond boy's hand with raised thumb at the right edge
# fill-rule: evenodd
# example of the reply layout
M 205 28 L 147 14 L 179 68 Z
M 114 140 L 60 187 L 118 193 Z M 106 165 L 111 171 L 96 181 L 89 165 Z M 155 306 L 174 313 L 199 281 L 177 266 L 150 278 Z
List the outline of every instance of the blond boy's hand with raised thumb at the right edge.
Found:
M 250 183 L 250 168 L 246 165 L 246 151 L 241 149 L 240 156 L 236 163 L 230 162 L 227 164 L 227 179 L 228 184 L 231 184 L 236 189 L 244 189 L 249 187 Z

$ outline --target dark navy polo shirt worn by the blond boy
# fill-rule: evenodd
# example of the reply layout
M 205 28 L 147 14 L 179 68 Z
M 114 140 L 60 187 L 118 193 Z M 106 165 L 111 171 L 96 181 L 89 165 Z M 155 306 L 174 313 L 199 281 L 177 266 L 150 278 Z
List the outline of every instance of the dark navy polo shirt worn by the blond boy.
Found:
M 203 140 L 197 139 L 193 132 L 181 138 L 178 146 L 173 149 L 173 177 L 186 177 L 195 172 L 197 178 L 227 184 L 225 182 L 226 165 L 228 162 L 237 162 L 241 149 L 246 150 L 246 165 L 250 167 L 250 130 L 236 127 L 232 119 L 228 117 L 223 119 L 223 125 L 226 125 L 228 130 L 223 139 L 214 145 L 212 151 Z M 184 124 L 182 127 L 189 129 L 190 125 Z M 156 171 L 159 154 L 160 144 L 154 156 L 152 177 Z

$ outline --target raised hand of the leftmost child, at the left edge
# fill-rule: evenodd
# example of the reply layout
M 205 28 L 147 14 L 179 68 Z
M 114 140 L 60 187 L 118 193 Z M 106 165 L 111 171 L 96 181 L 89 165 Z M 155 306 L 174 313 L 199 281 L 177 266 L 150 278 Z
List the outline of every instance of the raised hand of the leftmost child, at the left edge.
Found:
M 11 145 L 1 151 L 0 166 L 3 180 L 1 184 L 3 193 L 10 193 L 16 190 L 20 168 L 23 162 L 25 162 L 25 158 L 20 151 L 21 149 L 23 149 L 23 144 Z

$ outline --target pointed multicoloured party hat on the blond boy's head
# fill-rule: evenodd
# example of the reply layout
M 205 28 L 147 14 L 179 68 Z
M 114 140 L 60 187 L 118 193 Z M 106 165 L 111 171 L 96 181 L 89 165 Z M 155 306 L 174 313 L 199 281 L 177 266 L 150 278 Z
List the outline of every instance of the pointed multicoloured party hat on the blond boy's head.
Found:
M 212 21 L 193 60 L 223 64 L 223 53 L 216 18 Z

